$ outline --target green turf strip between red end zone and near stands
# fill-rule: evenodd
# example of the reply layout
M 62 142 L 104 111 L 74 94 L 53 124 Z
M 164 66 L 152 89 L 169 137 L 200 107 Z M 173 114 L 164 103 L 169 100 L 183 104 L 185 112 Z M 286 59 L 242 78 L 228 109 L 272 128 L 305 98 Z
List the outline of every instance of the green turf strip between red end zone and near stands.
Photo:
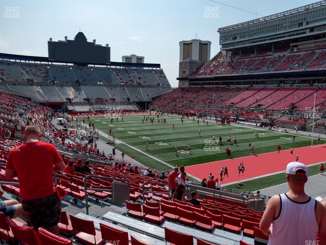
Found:
M 319 169 L 320 169 L 319 164 L 314 165 L 314 166 L 309 166 L 308 167 L 309 176 L 319 174 Z M 262 178 L 255 179 L 255 180 L 243 181 L 242 183 L 243 183 L 243 186 L 241 187 L 241 189 L 246 190 L 246 191 L 255 191 L 258 189 L 264 189 L 264 188 L 267 188 L 270 186 L 286 183 L 286 174 L 281 173 L 281 174 L 271 175 L 271 176 L 262 177 Z M 225 187 L 230 188 L 230 189 L 240 190 L 236 186 L 238 186 L 238 184 L 227 185 Z

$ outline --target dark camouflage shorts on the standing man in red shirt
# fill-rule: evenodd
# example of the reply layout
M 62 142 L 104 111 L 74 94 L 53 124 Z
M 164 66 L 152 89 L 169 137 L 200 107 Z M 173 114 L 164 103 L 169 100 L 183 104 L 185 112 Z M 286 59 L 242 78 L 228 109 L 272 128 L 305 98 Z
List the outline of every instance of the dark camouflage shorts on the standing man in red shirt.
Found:
M 55 226 L 60 221 L 61 200 L 57 192 L 49 197 L 21 201 L 29 226 L 35 229 Z

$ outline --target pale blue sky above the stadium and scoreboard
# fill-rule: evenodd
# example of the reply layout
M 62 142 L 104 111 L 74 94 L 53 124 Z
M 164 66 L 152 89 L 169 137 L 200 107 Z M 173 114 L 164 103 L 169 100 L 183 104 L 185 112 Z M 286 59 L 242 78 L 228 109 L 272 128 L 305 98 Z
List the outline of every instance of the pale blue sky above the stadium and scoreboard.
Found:
M 313 2 L 302 0 L 220 0 L 237 8 L 269 15 Z M 18 8 L 12 8 L 18 7 Z M 207 9 L 218 8 L 206 18 Z M 73 39 L 79 31 L 98 44 L 111 46 L 111 60 L 145 56 L 160 63 L 171 85 L 178 82 L 179 41 L 209 40 L 211 57 L 220 50 L 218 28 L 254 19 L 251 13 L 208 0 L 40 0 L 0 2 L 0 53 L 47 56 L 47 40 Z M 12 13 L 18 14 L 12 14 Z M 10 13 L 10 14 L 8 14 Z M 19 18 L 6 18 L 8 15 Z M 207 16 L 207 14 L 206 14 Z

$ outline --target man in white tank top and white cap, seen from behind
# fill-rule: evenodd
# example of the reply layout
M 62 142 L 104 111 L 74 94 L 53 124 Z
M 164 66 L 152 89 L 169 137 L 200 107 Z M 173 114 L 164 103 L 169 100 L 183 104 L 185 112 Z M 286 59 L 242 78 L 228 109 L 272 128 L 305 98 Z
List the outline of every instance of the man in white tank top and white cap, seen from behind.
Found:
M 326 244 L 326 209 L 305 193 L 308 169 L 300 162 L 286 167 L 289 191 L 274 195 L 260 221 L 261 231 L 269 237 L 268 245 Z

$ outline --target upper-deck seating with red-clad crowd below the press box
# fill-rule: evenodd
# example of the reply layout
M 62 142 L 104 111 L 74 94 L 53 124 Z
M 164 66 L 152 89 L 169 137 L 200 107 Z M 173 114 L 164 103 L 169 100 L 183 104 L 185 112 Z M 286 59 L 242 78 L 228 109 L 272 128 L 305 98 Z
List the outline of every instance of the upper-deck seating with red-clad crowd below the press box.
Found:
M 256 55 L 233 53 L 224 59 L 218 58 L 200 66 L 191 77 L 322 69 L 325 65 L 324 48 L 325 46 L 305 50 L 285 48 L 273 54 L 261 51 Z

